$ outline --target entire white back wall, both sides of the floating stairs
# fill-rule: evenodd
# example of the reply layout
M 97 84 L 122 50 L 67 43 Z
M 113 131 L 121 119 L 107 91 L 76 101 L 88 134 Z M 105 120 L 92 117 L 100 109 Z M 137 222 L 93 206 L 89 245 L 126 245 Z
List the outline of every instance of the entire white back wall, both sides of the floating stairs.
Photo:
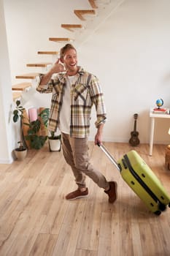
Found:
M 149 109 L 162 98 L 164 107 L 170 107 L 170 1 L 125 0 L 98 23 L 88 22 L 78 34 L 79 64 L 101 81 L 108 121 L 104 140 L 128 142 L 134 127 L 134 113 L 139 113 L 137 129 L 142 143 L 149 142 Z M 15 75 L 36 72 L 26 68 L 27 63 L 49 61 L 38 56 L 38 50 L 59 50 L 61 44 L 48 41 L 49 37 L 74 37 L 61 29 L 61 23 L 81 23 L 74 9 L 89 9 L 87 1 L 21 1 L 4 0 L 7 20 L 7 38 L 12 70 Z M 106 7 L 107 9 L 108 7 Z M 95 27 L 93 27 L 95 24 Z M 88 36 L 87 36 L 88 31 Z M 34 94 L 33 104 L 50 104 L 49 95 Z M 93 120 L 94 123 L 94 113 Z M 169 120 L 156 122 L 155 142 L 168 143 Z M 93 138 L 96 129 L 91 129 Z

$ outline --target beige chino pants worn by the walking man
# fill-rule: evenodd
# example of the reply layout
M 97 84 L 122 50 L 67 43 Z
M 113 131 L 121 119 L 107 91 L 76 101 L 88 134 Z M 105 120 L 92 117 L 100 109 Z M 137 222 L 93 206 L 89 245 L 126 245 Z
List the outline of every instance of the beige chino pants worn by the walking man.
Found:
M 106 189 L 109 186 L 106 178 L 90 164 L 88 158 L 88 138 L 71 138 L 62 133 L 63 156 L 72 167 L 77 186 L 86 187 L 85 176 L 90 177 L 98 187 Z

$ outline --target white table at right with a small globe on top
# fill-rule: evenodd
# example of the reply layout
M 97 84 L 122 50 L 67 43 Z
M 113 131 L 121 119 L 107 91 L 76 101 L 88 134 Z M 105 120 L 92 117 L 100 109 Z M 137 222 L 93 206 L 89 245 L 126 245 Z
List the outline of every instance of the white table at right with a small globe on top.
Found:
M 153 135 L 154 135 L 154 127 L 155 127 L 155 118 L 170 118 L 169 113 L 153 113 L 153 108 L 150 109 L 150 156 L 152 156 L 152 148 L 153 148 Z M 169 112 L 169 108 L 167 108 Z

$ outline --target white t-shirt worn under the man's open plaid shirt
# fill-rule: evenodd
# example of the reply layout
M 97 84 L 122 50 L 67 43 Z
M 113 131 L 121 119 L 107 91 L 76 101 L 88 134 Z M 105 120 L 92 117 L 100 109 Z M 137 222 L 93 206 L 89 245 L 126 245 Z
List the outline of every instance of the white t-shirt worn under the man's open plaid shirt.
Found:
M 72 84 L 74 84 L 75 81 L 76 81 L 76 75 L 67 76 L 66 88 L 63 94 L 63 103 L 61 106 L 60 121 L 59 121 L 58 128 L 61 130 L 61 132 L 66 134 L 70 134 L 70 118 L 71 118 L 70 92 L 71 92 Z

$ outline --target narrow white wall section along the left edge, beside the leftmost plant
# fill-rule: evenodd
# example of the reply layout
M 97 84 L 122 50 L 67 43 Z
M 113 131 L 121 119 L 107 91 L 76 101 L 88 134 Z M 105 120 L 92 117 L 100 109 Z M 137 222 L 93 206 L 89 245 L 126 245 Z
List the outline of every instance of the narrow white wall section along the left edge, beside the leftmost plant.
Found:
M 11 113 L 11 80 L 9 69 L 9 56 L 7 50 L 7 35 L 4 21 L 4 6 L 0 0 L 0 162 L 12 162 L 12 129 L 10 122 Z

